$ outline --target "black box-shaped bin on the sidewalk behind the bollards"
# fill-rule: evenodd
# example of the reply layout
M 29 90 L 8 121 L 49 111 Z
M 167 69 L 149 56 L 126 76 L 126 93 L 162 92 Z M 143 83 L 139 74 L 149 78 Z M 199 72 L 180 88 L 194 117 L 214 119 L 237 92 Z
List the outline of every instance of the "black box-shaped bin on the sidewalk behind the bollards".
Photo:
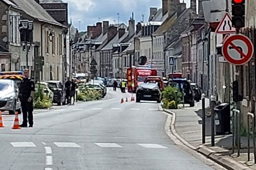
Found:
M 216 134 L 231 133 L 230 104 L 222 103 L 214 108 Z

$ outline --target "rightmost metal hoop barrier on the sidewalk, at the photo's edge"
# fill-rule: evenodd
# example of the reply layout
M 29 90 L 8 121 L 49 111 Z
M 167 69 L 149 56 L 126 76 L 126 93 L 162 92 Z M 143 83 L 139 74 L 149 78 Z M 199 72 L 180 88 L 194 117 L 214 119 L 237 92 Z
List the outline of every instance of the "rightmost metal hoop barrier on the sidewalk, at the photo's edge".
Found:
M 252 140 L 253 140 L 253 155 L 254 155 L 254 164 L 256 164 L 256 149 L 255 149 L 255 116 L 254 114 L 247 113 L 247 160 L 250 161 L 250 118 L 252 120 Z

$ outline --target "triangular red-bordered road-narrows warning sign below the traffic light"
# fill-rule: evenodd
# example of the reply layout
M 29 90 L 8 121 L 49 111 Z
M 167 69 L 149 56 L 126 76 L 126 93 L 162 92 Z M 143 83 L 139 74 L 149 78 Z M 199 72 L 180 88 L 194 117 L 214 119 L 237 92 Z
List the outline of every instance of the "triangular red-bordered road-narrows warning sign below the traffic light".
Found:
M 226 13 L 219 23 L 215 33 L 216 34 L 231 34 L 235 33 L 236 29 L 232 27 L 232 19 L 229 13 Z

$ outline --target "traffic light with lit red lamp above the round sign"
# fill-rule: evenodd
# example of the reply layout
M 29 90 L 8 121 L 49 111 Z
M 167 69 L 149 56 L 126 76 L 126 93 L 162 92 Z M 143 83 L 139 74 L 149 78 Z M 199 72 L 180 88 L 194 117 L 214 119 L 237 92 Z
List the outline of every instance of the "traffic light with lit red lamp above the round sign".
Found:
M 245 0 L 232 0 L 232 27 L 245 27 Z

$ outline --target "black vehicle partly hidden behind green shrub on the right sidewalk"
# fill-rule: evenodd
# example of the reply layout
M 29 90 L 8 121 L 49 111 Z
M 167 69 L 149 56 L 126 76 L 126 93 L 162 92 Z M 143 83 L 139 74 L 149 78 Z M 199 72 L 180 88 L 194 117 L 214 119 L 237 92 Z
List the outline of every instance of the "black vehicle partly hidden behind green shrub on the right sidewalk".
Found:
M 189 104 L 190 107 L 195 106 L 195 97 L 194 91 L 187 79 L 177 78 L 177 79 L 170 79 L 168 85 L 178 87 L 180 91 L 184 92 L 184 104 Z

